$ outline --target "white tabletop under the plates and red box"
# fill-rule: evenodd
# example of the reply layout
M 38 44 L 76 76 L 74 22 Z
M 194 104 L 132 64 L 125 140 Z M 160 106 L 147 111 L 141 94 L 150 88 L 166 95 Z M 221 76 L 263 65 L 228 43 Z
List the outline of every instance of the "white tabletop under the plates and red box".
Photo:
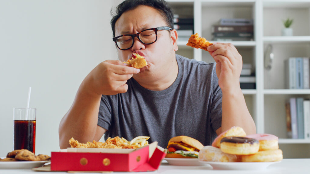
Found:
M 36 172 L 32 170 L 0 170 L 0 174 L 68 174 L 67 172 Z M 213 170 L 211 166 L 173 166 L 169 165 L 166 161 L 163 161 L 159 169 L 154 172 L 114 172 L 116 174 L 213 174 L 213 173 L 225 173 L 225 174 L 295 174 L 295 173 L 310 173 L 310 159 L 283 159 L 281 163 L 272 164 L 265 170 Z M 93 174 L 93 173 L 92 173 Z

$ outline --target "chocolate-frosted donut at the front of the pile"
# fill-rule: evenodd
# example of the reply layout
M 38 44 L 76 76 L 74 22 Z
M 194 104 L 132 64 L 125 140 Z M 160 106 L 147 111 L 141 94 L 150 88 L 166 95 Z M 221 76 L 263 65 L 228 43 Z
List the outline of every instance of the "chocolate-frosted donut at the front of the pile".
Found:
M 255 154 L 259 150 L 259 141 L 246 137 L 224 137 L 221 140 L 221 150 L 228 154 Z

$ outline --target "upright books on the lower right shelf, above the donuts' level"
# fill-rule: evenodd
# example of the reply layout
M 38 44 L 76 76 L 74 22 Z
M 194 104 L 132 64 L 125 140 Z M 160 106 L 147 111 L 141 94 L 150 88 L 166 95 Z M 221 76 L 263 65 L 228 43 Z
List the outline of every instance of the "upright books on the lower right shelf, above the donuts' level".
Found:
M 310 139 L 310 100 L 290 98 L 285 111 L 287 138 Z

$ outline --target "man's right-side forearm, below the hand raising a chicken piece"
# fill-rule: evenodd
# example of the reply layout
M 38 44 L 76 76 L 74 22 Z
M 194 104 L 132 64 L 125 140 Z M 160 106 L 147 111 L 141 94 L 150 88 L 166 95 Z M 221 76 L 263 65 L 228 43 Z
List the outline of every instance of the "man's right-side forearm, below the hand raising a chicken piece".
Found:
M 246 134 L 256 133 L 256 127 L 251 117 L 241 89 L 232 94 L 223 93 L 222 98 L 222 132 L 232 126 L 239 126 Z

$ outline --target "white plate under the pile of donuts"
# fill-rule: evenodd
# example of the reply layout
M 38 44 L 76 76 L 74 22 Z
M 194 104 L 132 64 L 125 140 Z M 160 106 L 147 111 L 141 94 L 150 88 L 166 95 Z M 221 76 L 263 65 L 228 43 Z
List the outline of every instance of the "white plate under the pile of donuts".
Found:
M 269 165 L 280 163 L 277 162 L 252 162 L 252 163 L 241 163 L 241 162 L 210 162 L 210 161 L 199 161 L 200 163 L 210 164 L 213 169 L 219 170 L 263 170 Z

